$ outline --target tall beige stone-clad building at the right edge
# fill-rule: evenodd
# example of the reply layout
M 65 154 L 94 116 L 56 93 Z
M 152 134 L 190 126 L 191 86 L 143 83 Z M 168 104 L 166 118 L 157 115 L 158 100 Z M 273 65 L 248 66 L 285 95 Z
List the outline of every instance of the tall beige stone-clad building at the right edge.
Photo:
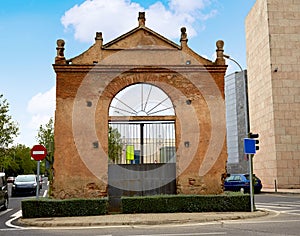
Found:
M 300 188 L 300 1 L 257 0 L 246 45 L 254 172 L 265 187 Z

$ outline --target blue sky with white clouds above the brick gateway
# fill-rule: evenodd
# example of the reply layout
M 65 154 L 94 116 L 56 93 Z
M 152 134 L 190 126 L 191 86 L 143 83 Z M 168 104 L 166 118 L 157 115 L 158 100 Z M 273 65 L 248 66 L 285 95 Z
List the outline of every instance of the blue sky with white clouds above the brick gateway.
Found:
M 19 123 L 16 143 L 36 144 L 39 125 L 54 117 L 56 40 L 66 41 L 72 58 L 103 32 L 104 43 L 137 26 L 146 26 L 179 44 L 187 27 L 189 46 L 214 60 L 215 43 L 246 68 L 245 17 L 255 0 L 0 0 L 0 94 Z M 228 61 L 228 73 L 239 70 Z

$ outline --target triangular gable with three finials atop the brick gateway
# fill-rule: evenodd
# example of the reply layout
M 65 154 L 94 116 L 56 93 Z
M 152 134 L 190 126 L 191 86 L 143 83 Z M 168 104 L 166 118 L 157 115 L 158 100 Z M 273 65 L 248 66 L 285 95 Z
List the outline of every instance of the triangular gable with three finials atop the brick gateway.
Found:
M 103 44 L 102 33 L 97 32 L 95 44 L 82 54 L 68 60 L 72 64 L 99 64 L 105 63 L 109 57 L 122 51 L 124 58 L 118 54 L 115 55 L 114 63 L 128 64 L 131 61 L 128 58 L 134 58 L 135 63 L 142 63 L 140 58 L 154 58 L 154 62 L 160 64 L 190 64 L 192 60 L 196 60 L 202 65 L 213 65 L 213 62 L 200 56 L 187 45 L 187 35 L 185 27 L 181 28 L 180 45 L 165 38 L 159 33 L 145 26 L 145 18 L 139 18 L 139 26 L 131 31 Z M 126 51 L 126 53 L 124 52 Z M 135 54 L 134 54 L 135 53 Z M 185 56 L 183 56 L 183 53 Z M 134 54 L 134 55 L 133 55 Z M 176 55 L 175 55 L 176 54 Z M 138 61 L 137 57 L 139 58 Z M 120 60 L 123 58 L 123 60 Z M 170 60 L 172 59 L 172 60 Z

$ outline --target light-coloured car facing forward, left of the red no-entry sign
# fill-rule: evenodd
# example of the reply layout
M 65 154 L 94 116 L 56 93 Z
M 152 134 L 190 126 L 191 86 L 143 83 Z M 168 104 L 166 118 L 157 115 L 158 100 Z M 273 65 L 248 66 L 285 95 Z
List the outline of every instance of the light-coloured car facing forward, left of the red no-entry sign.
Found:
M 11 195 L 15 196 L 17 194 L 36 194 L 37 185 L 36 175 L 18 175 L 12 186 Z

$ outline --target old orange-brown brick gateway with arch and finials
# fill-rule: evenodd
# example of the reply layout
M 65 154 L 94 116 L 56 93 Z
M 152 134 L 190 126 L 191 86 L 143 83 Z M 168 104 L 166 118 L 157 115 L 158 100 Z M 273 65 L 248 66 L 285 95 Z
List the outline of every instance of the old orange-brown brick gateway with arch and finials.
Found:
M 223 192 L 224 43 L 217 41 L 210 61 L 188 47 L 185 28 L 178 45 L 145 21 L 139 13 L 138 27 L 106 44 L 96 33 L 95 43 L 71 59 L 57 40 L 54 198 L 107 196 L 110 187 L 147 194 L 168 181 L 175 181 L 175 193 Z M 144 172 L 132 169 L 140 166 Z

